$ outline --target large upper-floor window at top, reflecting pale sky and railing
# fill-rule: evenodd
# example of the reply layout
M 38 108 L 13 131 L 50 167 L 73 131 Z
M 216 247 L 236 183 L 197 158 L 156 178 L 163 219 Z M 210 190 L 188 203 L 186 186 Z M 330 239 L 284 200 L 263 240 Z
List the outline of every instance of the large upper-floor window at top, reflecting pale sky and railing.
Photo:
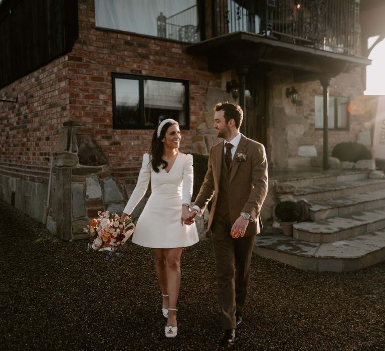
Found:
M 194 43 L 197 0 L 95 0 L 96 27 Z

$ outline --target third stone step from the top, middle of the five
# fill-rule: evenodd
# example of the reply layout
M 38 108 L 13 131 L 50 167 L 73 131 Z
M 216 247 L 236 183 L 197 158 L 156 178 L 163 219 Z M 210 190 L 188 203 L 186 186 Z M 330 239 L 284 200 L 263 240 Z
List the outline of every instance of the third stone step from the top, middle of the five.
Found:
M 375 192 L 352 194 L 340 198 L 313 200 L 310 208 L 310 220 L 321 221 L 334 216 L 368 211 L 385 206 L 385 189 Z

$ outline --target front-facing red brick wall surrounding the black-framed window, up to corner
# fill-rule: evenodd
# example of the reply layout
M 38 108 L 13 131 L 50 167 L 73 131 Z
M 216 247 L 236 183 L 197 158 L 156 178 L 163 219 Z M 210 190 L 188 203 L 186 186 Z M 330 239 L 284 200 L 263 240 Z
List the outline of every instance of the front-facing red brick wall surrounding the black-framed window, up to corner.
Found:
M 195 129 L 204 119 L 207 87 L 215 76 L 207 72 L 204 58 L 185 54 L 187 44 L 94 28 L 94 11 L 93 0 L 79 2 L 79 40 L 68 56 L 70 118 L 89 123 L 117 182 L 134 183 L 152 130 L 112 129 L 111 73 L 189 81 L 190 130 L 181 131 L 183 152 L 191 152 Z

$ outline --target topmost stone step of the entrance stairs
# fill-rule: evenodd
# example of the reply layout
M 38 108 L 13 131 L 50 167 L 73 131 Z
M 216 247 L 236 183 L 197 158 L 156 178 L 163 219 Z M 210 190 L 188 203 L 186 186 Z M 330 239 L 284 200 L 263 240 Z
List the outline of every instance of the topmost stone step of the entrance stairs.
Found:
M 288 174 L 286 177 L 277 178 L 279 183 L 288 183 L 301 187 L 310 187 L 323 184 L 335 184 L 337 182 L 351 182 L 367 179 L 370 171 L 368 170 L 328 170 L 327 172 L 297 172 L 296 174 Z

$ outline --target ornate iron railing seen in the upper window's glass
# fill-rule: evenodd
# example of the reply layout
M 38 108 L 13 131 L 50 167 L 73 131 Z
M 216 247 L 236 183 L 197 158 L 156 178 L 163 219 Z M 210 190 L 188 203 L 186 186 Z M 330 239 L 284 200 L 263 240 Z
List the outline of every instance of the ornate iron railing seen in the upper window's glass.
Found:
M 187 43 L 195 43 L 200 39 L 196 5 L 169 17 L 160 13 L 156 21 L 158 37 Z

